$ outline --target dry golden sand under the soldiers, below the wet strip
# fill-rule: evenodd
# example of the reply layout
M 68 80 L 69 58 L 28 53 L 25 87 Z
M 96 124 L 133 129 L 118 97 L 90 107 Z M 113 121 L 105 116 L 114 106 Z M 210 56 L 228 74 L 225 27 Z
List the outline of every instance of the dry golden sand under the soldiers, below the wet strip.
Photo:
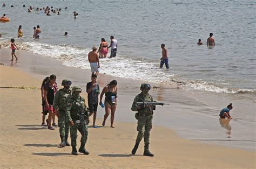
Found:
M 1 86 L 40 85 L 40 80 L 17 67 L 1 65 L 0 68 Z M 4 136 L 1 137 L 0 166 L 3 168 L 255 167 L 255 152 L 194 142 L 181 138 L 173 130 L 162 126 L 153 126 L 151 131 L 150 150 L 155 157 L 142 156 L 143 142 L 136 156 L 131 156 L 137 125 L 119 121 L 115 122 L 116 129 L 93 129 L 89 125 L 86 149 L 90 151 L 90 155 L 72 156 L 71 147 L 58 147 L 58 128 L 52 131 L 40 125 L 42 114 L 38 102 L 41 101 L 39 93 L 38 89 L 0 89 L 1 97 L 5 98 L 0 101 L 0 134 Z M 85 97 L 86 94 L 83 92 L 82 96 Z M 13 118 L 14 115 L 16 118 Z M 101 118 L 97 118 L 97 122 L 100 120 Z M 79 138 L 80 135 L 78 145 Z

